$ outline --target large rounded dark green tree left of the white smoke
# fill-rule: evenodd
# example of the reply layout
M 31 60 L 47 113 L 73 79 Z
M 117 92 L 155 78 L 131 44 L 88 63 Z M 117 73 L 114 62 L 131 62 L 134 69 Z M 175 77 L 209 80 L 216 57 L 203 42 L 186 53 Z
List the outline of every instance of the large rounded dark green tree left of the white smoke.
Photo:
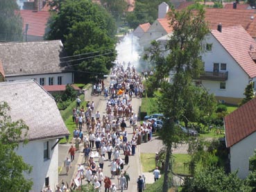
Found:
M 101 77 L 108 73 L 115 60 L 117 27 L 110 13 L 88 0 L 60 2 L 58 12 L 49 19 L 47 40 L 62 40 L 67 59 L 82 78 Z

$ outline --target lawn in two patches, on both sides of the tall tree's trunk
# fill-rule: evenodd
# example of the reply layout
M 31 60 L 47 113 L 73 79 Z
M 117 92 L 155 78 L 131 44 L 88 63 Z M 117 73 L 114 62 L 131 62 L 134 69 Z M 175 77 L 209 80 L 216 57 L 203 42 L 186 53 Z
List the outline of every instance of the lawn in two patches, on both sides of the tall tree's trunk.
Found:
M 155 153 L 140 154 L 142 163 L 142 172 L 152 172 L 155 170 Z M 189 175 L 190 157 L 187 154 L 174 154 L 173 155 L 173 172 L 181 175 Z

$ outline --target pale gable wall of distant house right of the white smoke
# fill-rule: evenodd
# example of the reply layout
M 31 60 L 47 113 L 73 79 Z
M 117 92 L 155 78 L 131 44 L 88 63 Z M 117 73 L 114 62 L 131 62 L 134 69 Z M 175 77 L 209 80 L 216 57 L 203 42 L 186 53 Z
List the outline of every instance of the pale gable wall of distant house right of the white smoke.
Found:
M 167 35 L 167 31 L 161 26 L 161 24 L 155 20 L 150 28 L 140 37 L 139 44 L 144 48 L 150 46 L 153 40 L 157 40 L 159 37 Z

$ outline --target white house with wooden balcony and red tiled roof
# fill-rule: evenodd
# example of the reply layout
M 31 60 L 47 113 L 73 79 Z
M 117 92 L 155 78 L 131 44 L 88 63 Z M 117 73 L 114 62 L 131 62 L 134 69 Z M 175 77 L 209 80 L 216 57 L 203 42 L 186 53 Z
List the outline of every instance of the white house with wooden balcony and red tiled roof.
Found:
M 206 37 L 200 84 L 218 101 L 237 104 L 244 89 L 256 80 L 256 42 L 242 26 L 212 30 Z

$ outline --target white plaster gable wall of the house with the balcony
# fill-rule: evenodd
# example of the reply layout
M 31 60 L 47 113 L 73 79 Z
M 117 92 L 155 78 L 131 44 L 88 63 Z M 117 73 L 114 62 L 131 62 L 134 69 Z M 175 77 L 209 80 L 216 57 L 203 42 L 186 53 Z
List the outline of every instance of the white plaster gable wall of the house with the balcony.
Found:
M 223 49 L 223 46 L 216 41 L 212 34 L 207 36 L 206 42 L 212 44 L 212 51 L 207 51 L 202 55 L 205 62 L 205 71 L 213 71 L 214 62 L 226 63 L 228 80 L 225 81 L 226 89 L 219 89 L 220 81 L 213 80 L 202 80 L 203 86 L 215 96 L 244 98 L 244 89 L 249 82 L 248 75 L 230 56 L 228 51 Z

